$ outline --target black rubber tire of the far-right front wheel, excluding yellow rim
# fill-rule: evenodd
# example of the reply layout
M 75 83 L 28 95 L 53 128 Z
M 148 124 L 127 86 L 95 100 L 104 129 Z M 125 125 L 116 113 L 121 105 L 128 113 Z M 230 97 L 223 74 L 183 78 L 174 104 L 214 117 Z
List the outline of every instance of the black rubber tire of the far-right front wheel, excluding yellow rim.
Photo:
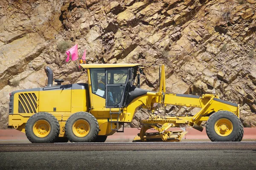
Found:
M 228 136 L 220 136 L 215 132 L 215 122 L 219 119 L 228 119 L 233 124 L 233 131 Z M 240 119 L 229 111 L 213 113 L 206 123 L 206 133 L 212 142 L 240 142 L 244 136 L 244 127 Z

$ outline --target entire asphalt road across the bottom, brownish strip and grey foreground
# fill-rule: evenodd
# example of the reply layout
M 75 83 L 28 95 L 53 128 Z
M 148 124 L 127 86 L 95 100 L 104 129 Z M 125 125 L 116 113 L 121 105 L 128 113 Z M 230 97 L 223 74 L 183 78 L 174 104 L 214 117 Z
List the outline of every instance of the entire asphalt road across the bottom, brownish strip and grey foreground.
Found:
M 0 144 L 0 169 L 254 170 L 256 142 Z

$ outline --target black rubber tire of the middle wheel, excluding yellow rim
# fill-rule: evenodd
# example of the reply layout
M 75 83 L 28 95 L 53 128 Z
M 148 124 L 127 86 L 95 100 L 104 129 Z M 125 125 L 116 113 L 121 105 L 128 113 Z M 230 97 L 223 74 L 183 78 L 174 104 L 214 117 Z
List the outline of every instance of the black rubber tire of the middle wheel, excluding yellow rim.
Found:
M 73 133 L 73 124 L 79 120 L 84 119 L 90 125 L 89 133 L 84 137 L 78 137 Z M 65 134 L 70 142 L 94 142 L 99 133 L 99 123 L 97 119 L 90 113 L 77 112 L 71 115 L 65 125 Z

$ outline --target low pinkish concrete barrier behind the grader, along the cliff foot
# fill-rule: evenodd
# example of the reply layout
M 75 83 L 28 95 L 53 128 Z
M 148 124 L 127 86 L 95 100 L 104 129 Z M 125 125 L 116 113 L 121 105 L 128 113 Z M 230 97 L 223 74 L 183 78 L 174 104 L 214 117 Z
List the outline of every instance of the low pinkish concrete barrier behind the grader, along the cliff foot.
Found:
M 180 128 L 172 127 L 169 130 L 180 130 Z M 187 127 L 188 133 L 183 137 L 183 139 L 209 139 L 206 130 L 202 132 L 193 129 L 192 127 Z M 157 132 L 156 130 L 148 130 L 148 132 Z M 140 133 L 137 128 L 125 128 L 124 133 L 114 133 L 108 136 L 106 142 L 132 142 L 134 137 Z M 244 137 L 243 139 L 256 139 L 256 127 L 244 127 Z M 15 129 L 0 130 L 0 141 L 28 141 L 26 134 Z

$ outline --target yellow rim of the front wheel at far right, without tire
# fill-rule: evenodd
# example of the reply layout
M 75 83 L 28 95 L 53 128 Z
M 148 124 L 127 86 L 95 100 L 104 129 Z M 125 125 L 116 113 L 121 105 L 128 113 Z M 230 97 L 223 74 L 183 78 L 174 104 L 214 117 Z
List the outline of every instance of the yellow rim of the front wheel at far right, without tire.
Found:
M 215 132 L 219 136 L 229 136 L 233 130 L 233 124 L 229 119 L 219 119 L 214 125 Z

